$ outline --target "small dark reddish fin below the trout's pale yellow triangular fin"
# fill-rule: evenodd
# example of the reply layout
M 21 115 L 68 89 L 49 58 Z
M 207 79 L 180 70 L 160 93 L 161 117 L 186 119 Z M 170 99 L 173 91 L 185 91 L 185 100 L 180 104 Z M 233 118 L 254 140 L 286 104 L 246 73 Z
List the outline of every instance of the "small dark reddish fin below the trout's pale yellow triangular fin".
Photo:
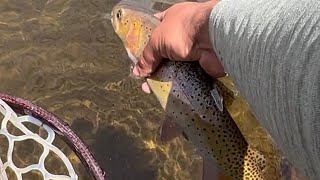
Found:
M 170 117 L 166 117 L 160 128 L 160 139 L 163 142 L 170 141 L 183 133 L 182 128 Z

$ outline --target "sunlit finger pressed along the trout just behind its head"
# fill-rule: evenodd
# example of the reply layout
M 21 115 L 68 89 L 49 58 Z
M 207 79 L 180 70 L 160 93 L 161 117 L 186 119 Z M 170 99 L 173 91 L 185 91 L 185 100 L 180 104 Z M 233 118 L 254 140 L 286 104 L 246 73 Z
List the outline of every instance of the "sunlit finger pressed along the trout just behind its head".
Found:
M 149 76 L 160 64 L 162 55 L 160 49 L 162 47 L 162 30 L 159 25 L 151 34 L 150 40 L 145 46 L 142 55 L 138 58 L 138 62 L 133 69 L 136 76 Z

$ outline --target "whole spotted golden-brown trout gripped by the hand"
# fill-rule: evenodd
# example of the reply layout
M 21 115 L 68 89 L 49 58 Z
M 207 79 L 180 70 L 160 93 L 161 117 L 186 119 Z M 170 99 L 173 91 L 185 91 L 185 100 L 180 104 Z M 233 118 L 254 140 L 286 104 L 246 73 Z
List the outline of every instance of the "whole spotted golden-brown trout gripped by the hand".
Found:
M 136 63 L 159 20 L 146 10 L 116 5 L 112 25 Z M 265 179 L 265 158 L 251 149 L 226 108 L 219 107 L 215 81 L 197 62 L 164 60 L 146 81 L 165 110 L 162 127 L 181 130 L 203 157 L 233 179 Z M 169 135 L 170 136 L 170 135 Z

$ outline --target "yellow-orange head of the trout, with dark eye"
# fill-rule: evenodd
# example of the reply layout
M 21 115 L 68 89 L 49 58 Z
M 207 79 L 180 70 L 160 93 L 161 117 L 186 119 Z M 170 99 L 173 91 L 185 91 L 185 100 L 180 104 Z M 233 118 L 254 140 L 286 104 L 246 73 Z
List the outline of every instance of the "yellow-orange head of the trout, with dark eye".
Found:
M 129 58 L 137 63 L 159 20 L 147 10 L 130 5 L 116 5 L 111 12 L 111 23 L 121 39 Z

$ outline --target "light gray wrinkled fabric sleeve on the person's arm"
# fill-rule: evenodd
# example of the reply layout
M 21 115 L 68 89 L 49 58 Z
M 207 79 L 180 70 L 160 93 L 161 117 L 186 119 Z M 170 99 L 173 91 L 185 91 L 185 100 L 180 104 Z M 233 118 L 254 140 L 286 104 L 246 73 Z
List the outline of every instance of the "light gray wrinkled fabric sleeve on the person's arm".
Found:
M 222 0 L 209 31 L 226 72 L 287 158 L 320 177 L 320 1 Z

